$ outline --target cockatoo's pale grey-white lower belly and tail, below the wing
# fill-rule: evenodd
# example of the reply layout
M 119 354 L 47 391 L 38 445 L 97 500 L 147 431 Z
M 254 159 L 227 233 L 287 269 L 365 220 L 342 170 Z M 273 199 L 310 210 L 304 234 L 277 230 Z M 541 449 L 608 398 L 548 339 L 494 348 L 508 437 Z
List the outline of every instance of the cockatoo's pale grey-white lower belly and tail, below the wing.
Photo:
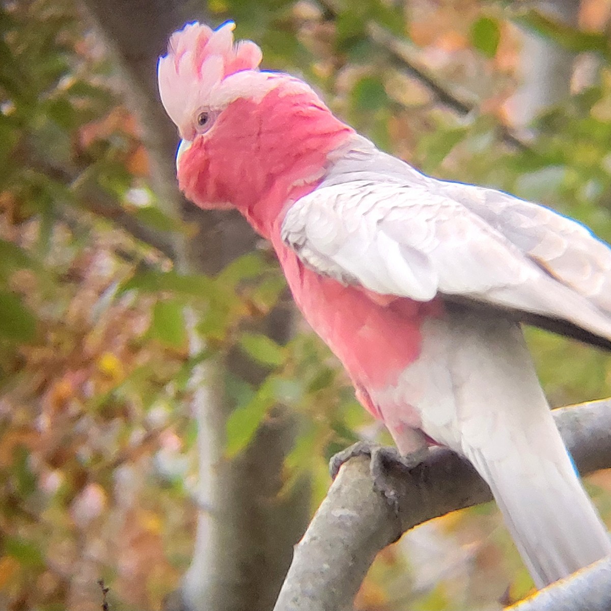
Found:
M 370 391 L 398 447 L 409 429 L 397 406 L 409 405 L 428 436 L 488 482 L 538 587 L 611 554 L 518 324 L 464 309 L 428 321 L 422 335 L 419 359 L 397 384 Z

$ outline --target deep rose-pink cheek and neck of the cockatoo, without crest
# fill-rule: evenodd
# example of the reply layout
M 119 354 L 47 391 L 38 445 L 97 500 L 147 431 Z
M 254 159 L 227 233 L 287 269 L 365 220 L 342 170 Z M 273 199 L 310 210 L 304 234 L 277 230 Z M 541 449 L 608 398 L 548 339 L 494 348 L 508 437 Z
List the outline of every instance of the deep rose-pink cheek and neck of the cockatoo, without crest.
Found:
M 219 115 L 210 137 L 181 159 L 180 187 L 202 207 L 238 208 L 269 238 L 282 209 L 320 182 L 329 153 L 353 133 L 315 93 L 281 84 L 262 101 L 240 98 Z

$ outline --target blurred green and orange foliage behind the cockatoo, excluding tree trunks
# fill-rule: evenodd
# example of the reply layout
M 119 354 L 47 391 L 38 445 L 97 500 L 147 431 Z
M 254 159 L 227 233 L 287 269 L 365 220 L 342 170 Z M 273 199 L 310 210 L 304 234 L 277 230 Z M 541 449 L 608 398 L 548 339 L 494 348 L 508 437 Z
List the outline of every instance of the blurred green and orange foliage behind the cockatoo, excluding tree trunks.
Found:
M 266 68 L 302 75 L 382 148 L 439 177 L 538 200 L 611 239 L 609 2 L 584 2 L 582 29 L 476 0 L 210 0 L 207 10 L 215 24 L 235 19 L 238 36 L 262 46 Z M 309 474 L 313 507 L 329 484 L 326 460 L 381 433 L 305 326 L 284 346 L 252 332 L 285 300 L 268 251 L 214 278 L 183 276 L 133 235 L 136 225 L 170 238 L 188 228 L 148 188 L 120 76 L 83 23 L 68 0 L 0 5 L 0 606 L 12 610 L 100 609 L 98 577 L 130 609 L 159 608 L 191 554 L 188 381 L 211 356 L 238 349 L 269 371 L 258 387 L 224 381 L 235 404 L 227 456 L 274 405 L 290 406 L 304 424 L 285 489 Z M 473 111 L 439 104 L 430 82 L 371 35 L 372 23 L 450 95 L 470 92 Z M 596 78 L 536 120 L 524 146 L 506 129 L 516 24 L 599 58 Z M 199 354 L 189 355 L 187 307 L 199 313 Z M 609 357 L 528 336 L 552 403 L 606 395 Z M 595 482 L 609 518 L 611 481 Z M 489 609 L 529 587 L 496 510 L 480 507 L 382 552 L 357 606 Z

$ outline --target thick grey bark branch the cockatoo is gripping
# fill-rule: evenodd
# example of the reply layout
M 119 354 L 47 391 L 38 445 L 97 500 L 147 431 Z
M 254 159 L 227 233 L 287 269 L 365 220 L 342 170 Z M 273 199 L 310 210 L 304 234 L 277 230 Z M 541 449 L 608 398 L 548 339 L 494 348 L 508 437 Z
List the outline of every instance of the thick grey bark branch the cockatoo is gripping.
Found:
M 582 475 L 611 467 L 611 400 L 558 409 L 554 417 Z M 274 611 L 350 609 L 376 554 L 403 532 L 492 500 L 475 469 L 445 448 L 433 448 L 409 474 L 393 469 L 389 477 L 398 493 L 398 513 L 373 489 L 367 458 L 359 456 L 343 464 L 295 547 Z M 592 609 L 611 609 L 608 583 L 607 588 L 607 606 Z M 551 608 L 525 607 L 528 611 Z

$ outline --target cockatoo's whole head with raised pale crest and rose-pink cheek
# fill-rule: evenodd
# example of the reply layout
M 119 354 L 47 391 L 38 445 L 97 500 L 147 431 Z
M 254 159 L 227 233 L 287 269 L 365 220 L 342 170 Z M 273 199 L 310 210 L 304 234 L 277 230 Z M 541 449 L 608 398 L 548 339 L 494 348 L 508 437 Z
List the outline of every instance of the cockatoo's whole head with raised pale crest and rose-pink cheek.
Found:
M 234 43 L 234 27 L 175 32 L 159 59 L 159 93 L 182 139 L 180 188 L 200 207 L 239 208 L 261 230 L 255 207 L 269 214 L 291 186 L 320 180 L 329 152 L 353 132 L 305 82 L 259 70 L 261 49 Z

